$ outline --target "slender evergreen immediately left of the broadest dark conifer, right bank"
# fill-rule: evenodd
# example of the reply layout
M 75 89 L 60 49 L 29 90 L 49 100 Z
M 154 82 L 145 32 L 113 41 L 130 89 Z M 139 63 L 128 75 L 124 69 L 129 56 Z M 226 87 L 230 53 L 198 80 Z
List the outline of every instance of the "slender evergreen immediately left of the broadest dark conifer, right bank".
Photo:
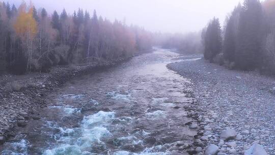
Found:
M 228 62 L 235 62 L 235 53 L 236 53 L 236 43 L 237 43 L 237 30 L 238 30 L 238 21 L 239 14 L 241 11 L 241 5 L 239 4 L 234 11 L 226 25 L 225 29 L 225 39 L 224 39 L 224 59 Z

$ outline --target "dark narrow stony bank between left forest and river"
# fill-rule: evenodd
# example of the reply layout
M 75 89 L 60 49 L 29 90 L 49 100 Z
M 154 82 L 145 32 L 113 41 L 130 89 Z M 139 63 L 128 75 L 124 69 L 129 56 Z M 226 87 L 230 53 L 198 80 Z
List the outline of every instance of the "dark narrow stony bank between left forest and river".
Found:
M 47 107 L 43 96 L 67 80 L 81 74 L 115 66 L 131 59 L 94 62 L 83 66 L 59 66 L 49 73 L 2 75 L 0 80 L 0 144 L 14 137 L 15 126 L 24 127 L 31 119 L 40 119 L 39 109 Z

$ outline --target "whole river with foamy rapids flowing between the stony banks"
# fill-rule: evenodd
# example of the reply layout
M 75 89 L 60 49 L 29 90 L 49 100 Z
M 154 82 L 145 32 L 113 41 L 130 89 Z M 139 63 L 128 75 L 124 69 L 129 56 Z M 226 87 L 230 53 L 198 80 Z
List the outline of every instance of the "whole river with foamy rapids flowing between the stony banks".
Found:
M 69 81 L 46 96 L 1 154 L 184 154 L 196 131 L 184 125 L 188 80 L 167 69 L 179 55 L 157 49 L 117 67 Z M 185 60 L 191 61 L 191 60 Z

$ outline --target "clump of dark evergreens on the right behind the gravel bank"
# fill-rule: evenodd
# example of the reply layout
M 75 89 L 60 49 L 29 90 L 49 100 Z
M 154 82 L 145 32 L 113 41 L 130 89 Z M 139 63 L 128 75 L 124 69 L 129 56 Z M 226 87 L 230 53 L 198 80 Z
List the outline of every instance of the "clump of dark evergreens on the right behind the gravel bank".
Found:
M 205 59 L 229 68 L 275 73 L 275 1 L 245 0 L 222 30 L 213 18 L 202 33 Z

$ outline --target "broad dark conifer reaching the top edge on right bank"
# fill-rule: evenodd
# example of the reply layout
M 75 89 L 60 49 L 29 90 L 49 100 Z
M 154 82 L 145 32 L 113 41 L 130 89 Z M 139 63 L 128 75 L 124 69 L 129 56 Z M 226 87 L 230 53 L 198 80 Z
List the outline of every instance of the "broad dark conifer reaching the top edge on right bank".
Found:
M 259 0 L 245 0 L 240 12 L 236 66 L 242 70 L 252 70 L 259 64 L 261 49 L 262 8 Z

